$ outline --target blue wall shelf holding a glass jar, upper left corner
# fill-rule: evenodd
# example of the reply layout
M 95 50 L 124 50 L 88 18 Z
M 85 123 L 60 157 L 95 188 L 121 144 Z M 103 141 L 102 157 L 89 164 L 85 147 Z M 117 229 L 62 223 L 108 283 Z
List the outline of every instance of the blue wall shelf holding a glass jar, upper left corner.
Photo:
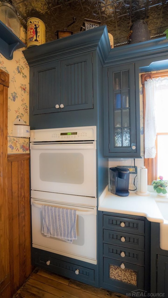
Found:
M 0 53 L 8 60 L 13 59 L 13 52 L 25 47 L 25 44 L 0 21 Z

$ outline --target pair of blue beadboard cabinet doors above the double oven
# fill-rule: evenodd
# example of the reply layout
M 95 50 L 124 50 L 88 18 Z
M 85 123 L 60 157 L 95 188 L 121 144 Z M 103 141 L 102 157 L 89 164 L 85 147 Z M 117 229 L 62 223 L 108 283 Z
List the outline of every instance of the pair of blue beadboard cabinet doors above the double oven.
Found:
M 34 66 L 33 115 L 93 108 L 92 53 Z

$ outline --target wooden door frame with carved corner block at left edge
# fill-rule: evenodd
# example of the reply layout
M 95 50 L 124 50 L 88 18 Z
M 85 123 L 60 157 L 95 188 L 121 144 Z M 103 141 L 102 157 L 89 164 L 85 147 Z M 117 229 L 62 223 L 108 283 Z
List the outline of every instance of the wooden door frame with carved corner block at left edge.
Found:
M 10 297 L 8 179 L 7 179 L 7 100 L 9 74 L 0 69 L 0 295 Z M 3 279 L 4 278 L 4 279 Z

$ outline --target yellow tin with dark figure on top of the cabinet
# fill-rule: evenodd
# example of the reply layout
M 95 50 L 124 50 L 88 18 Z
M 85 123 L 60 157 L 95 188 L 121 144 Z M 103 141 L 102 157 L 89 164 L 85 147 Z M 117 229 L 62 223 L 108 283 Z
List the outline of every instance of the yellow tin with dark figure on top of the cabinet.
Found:
M 45 44 L 45 24 L 38 18 L 29 18 L 27 22 L 27 47 Z

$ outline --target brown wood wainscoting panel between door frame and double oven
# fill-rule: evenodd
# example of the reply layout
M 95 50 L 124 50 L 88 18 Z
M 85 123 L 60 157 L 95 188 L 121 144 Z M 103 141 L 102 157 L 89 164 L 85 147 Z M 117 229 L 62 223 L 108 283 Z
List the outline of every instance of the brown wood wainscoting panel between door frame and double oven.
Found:
M 10 247 L 13 294 L 32 272 L 30 236 L 30 154 L 8 155 Z

